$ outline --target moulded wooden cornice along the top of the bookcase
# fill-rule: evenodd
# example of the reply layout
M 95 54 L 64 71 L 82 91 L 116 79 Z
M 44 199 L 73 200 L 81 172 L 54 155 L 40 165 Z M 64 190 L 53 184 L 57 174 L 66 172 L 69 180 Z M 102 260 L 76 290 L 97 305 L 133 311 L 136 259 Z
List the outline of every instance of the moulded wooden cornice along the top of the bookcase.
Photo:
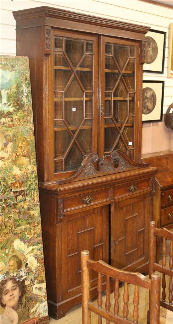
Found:
M 48 17 L 48 18 L 64 19 L 68 21 L 85 23 L 85 24 L 90 24 L 90 25 L 95 25 L 100 27 L 106 27 L 106 28 L 135 31 L 137 33 L 143 33 L 143 34 L 146 34 L 150 29 L 150 27 L 147 26 L 130 24 L 124 21 L 106 19 L 103 17 L 85 15 L 73 11 L 67 11 L 67 10 L 62 10 L 59 8 L 53 8 L 48 6 L 13 11 L 13 16 L 17 22 L 26 19 L 31 19 L 31 18 L 45 17 L 45 25 L 49 25 L 49 22 L 48 21 L 46 22 L 46 17 Z

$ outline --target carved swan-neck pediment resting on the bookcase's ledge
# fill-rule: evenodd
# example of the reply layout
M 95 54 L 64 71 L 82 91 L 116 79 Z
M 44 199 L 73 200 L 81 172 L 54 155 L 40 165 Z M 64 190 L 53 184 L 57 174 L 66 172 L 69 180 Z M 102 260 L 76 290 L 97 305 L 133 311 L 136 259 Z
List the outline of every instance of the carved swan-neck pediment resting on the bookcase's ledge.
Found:
M 88 154 L 83 159 L 80 168 L 72 177 L 58 180 L 56 181 L 57 184 L 100 177 L 105 174 L 122 172 L 129 169 L 145 168 L 149 165 L 133 161 L 129 156 L 126 155 L 125 152 L 121 150 L 113 151 L 112 156 L 105 155 L 101 157 L 99 161 L 98 159 L 99 157 L 96 153 Z M 98 170 L 96 169 L 97 161 Z

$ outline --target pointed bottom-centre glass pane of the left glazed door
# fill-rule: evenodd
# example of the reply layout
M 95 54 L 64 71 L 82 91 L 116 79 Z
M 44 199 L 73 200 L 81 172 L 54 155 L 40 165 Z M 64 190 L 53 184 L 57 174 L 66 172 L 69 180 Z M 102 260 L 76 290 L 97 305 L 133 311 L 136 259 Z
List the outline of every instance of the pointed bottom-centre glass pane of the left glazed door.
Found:
M 68 153 L 68 156 L 65 159 L 65 171 L 79 169 L 82 161 L 83 161 L 83 155 L 81 154 L 76 143 L 73 143 Z

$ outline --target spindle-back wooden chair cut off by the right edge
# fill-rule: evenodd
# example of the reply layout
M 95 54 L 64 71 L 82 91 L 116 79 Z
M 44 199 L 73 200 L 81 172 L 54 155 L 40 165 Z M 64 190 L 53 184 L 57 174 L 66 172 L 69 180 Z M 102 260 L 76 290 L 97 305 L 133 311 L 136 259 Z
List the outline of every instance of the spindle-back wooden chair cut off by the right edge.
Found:
M 162 264 L 156 262 L 156 240 L 157 237 L 163 238 L 162 246 Z M 166 239 L 170 239 L 169 248 L 169 268 L 166 267 Z M 162 273 L 162 298 L 160 300 L 160 306 L 165 307 L 173 311 L 173 230 L 167 228 L 155 228 L 155 222 L 150 222 L 150 238 L 149 238 L 149 275 L 151 276 L 155 271 Z M 168 301 L 166 301 L 166 280 L 165 275 L 169 276 L 169 295 Z

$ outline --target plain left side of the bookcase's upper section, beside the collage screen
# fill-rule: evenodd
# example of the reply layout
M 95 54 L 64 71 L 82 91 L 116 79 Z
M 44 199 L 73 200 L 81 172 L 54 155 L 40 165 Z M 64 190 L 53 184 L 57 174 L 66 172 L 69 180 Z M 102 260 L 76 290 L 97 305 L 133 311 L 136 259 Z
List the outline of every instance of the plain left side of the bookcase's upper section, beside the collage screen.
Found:
M 49 120 L 51 120 L 48 104 L 46 105 L 49 85 L 47 78 L 51 59 L 47 57 L 44 59 L 45 27 L 17 30 L 16 39 L 17 55 L 29 57 L 38 179 L 44 182 L 50 178 L 47 160 L 50 146 Z

